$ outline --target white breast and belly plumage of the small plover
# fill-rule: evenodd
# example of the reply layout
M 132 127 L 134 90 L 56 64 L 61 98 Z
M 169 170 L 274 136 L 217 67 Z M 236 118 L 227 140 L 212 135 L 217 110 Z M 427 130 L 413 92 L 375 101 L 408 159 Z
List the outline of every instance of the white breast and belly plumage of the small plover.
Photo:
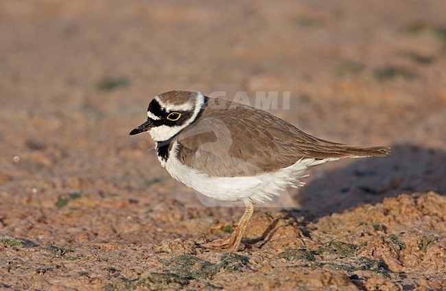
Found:
M 263 202 L 271 200 L 280 190 L 287 187 L 298 187 L 304 183 L 299 181 L 305 175 L 305 170 L 313 165 L 334 161 L 337 159 L 300 159 L 293 165 L 276 172 L 265 172 L 256 176 L 242 177 L 210 177 L 181 163 L 178 158 L 178 143 L 175 141 L 169 152 L 167 162 L 161 165 L 176 180 L 184 183 L 201 194 L 222 201 Z

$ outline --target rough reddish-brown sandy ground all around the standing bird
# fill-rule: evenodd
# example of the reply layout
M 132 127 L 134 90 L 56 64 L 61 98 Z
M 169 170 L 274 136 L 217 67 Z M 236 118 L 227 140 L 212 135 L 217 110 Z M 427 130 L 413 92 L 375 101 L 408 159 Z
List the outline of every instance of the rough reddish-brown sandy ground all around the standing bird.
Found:
M 0 289 L 445 290 L 445 14 L 441 0 L 1 1 Z M 172 89 L 290 92 L 270 112 L 392 156 L 315 167 L 257 208 L 243 251 L 202 248 L 243 209 L 212 206 L 128 136 Z

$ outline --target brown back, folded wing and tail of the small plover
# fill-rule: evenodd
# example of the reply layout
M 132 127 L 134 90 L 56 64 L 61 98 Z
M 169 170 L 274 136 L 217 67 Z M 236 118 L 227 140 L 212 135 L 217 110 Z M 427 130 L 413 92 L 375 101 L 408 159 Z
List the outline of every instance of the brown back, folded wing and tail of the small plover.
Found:
M 388 148 L 357 148 L 317 139 L 266 111 L 214 98 L 176 141 L 178 159 L 209 176 L 253 176 L 301 158 L 388 154 Z

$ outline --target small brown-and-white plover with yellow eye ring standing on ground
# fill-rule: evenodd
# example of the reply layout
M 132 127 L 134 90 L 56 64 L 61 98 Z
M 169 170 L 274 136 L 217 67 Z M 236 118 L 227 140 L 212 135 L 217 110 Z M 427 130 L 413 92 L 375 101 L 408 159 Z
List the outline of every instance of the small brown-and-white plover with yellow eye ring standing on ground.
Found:
M 264 110 L 193 91 L 154 97 L 148 132 L 169 174 L 196 191 L 246 209 L 230 237 L 213 246 L 237 251 L 254 205 L 287 187 L 303 186 L 308 167 L 342 158 L 387 156 L 390 148 L 360 148 L 307 135 Z

